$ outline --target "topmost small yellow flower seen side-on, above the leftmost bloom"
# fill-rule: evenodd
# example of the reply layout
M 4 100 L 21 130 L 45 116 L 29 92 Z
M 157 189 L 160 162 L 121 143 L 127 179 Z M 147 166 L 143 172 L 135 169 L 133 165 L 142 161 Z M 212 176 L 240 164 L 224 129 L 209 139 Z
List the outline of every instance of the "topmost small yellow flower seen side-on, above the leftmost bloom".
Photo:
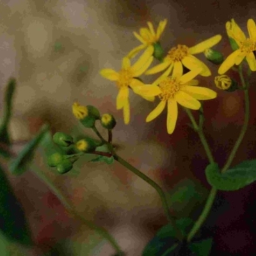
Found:
M 128 58 L 133 58 L 146 47 L 153 45 L 159 41 L 160 36 L 162 35 L 164 28 L 166 27 L 167 20 L 164 19 L 159 22 L 157 31 L 155 31 L 151 22 L 147 22 L 148 28 L 141 28 L 140 35 L 136 32 L 133 32 L 134 36 L 141 42 L 141 45 L 132 49 L 129 54 L 127 54 Z

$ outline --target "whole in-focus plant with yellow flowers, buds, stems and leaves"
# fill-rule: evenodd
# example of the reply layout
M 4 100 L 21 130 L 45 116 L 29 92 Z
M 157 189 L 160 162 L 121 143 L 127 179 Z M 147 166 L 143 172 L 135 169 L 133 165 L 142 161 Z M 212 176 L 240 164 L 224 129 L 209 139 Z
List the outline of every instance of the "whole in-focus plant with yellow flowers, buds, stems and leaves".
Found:
M 152 23 L 147 22 L 147 28 L 141 28 L 140 33 L 134 32 L 134 36 L 136 36 L 141 44 L 124 56 L 119 71 L 104 68 L 100 70 L 100 75 L 115 83 L 118 89 L 116 109 L 123 109 L 125 124 L 129 124 L 130 121 L 129 93 L 132 92 L 149 101 L 154 101 L 155 97 L 158 96 L 157 100 L 159 103 L 156 108 L 148 114 L 145 121 L 150 122 L 154 120 L 163 112 L 164 108 L 167 108 L 166 127 L 168 134 L 172 134 L 175 129 L 178 118 L 178 106 L 182 106 L 182 109 L 186 111 L 191 120 L 191 126 L 195 132 L 198 133 L 209 159 L 209 164 L 205 166 L 205 175 L 212 189 L 205 203 L 204 210 L 198 219 L 196 221 L 190 219 L 181 220 L 177 218 L 177 216 L 172 216 L 170 205 L 168 205 L 168 200 L 163 189 L 161 189 L 154 180 L 147 177 L 147 175 L 140 172 L 140 170 L 136 169 L 116 154 L 115 147 L 112 143 L 112 131 L 116 125 L 114 116 L 109 113 L 101 115 L 99 110 L 94 106 L 81 106 L 75 102 L 73 104 L 73 113 L 84 127 L 92 129 L 95 134 L 97 134 L 99 141 L 95 141 L 92 138 L 74 141 L 70 135 L 57 132 L 53 136 L 53 141 L 60 145 L 60 147 L 72 146 L 76 148 L 77 152 L 67 155 L 55 153 L 49 157 L 49 165 L 56 167 L 59 173 L 66 173 L 71 170 L 74 161 L 82 154 L 94 154 L 96 156 L 94 161 L 104 161 L 106 163 L 112 163 L 114 160 L 118 161 L 156 189 L 161 197 L 164 212 L 168 220 L 168 225 L 157 232 L 157 239 L 152 239 L 152 241 L 147 244 L 143 255 L 183 255 L 182 253 L 184 252 L 188 253 L 186 255 L 197 255 L 193 253 L 198 251 L 204 251 L 204 255 L 209 255 L 211 252 L 212 239 L 211 237 L 198 237 L 198 231 L 211 211 L 211 206 L 218 189 L 234 191 L 256 180 L 256 159 L 244 161 L 230 168 L 237 148 L 241 144 L 244 133 L 248 127 L 248 89 L 250 86 L 248 84 L 248 77 L 256 70 L 256 26 L 253 19 L 248 20 L 249 37 L 246 37 L 234 19 L 227 22 L 226 29 L 232 53 L 225 59 L 221 52 L 212 49 L 212 47 L 220 42 L 221 35 L 214 35 L 192 46 L 178 44 L 172 46 L 170 50 L 165 53 L 161 47 L 160 38 L 163 35 L 166 23 L 167 20 L 162 20 L 155 30 Z M 140 52 L 142 52 L 140 57 L 134 60 L 134 57 L 138 56 Z M 241 90 L 241 92 L 243 91 L 244 93 L 244 124 L 230 152 L 230 156 L 227 158 L 227 162 L 221 170 L 214 161 L 211 148 L 209 147 L 203 131 L 205 116 L 200 100 L 212 100 L 217 97 L 217 93 L 204 86 L 199 86 L 200 76 L 209 77 L 212 75 L 209 67 L 196 58 L 196 54 L 200 53 L 204 53 L 205 58 L 211 61 L 211 63 L 220 66 L 218 68 L 220 76 L 211 78 L 212 83 L 214 82 L 216 84 L 216 90 L 224 90 L 229 93 Z M 150 67 L 154 58 L 159 61 L 159 64 Z M 239 74 L 240 81 L 236 81 L 225 74 L 230 68 Z M 245 70 L 247 70 L 247 72 L 244 72 Z M 150 84 L 143 83 L 140 77 L 143 74 L 151 75 L 160 72 L 162 72 L 162 74 Z M 198 121 L 193 116 L 191 109 L 199 110 L 200 115 Z M 95 125 L 97 121 L 102 127 L 108 130 L 108 139 L 103 138 L 98 131 Z M 164 233 L 164 236 L 162 236 L 162 233 Z M 194 238 L 196 235 L 195 243 Z M 166 239 L 166 236 L 170 236 L 172 243 L 162 243 L 164 239 Z M 162 239 L 163 241 L 161 241 Z M 109 242 L 115 246 L 118 253 L 117 255 L 122 255 L 123 252 L 115 243 L 113 237 L 109 238 Z

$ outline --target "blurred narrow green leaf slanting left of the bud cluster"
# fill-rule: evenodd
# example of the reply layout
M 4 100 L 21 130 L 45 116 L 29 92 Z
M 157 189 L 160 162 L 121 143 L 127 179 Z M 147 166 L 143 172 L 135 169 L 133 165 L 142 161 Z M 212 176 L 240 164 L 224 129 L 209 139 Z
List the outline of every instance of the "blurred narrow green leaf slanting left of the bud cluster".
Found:
M 34 153 L 40 141 L 44 138 L 45 134 L 49 131 L 49 125 L 44 125 L 40 132 L 29 141 L 29 143 L 22 149 L 19 156 L 10 164 L 10 171 L 14 175 L 20 175 L 26 172 L 28 164 L 33 159 Z

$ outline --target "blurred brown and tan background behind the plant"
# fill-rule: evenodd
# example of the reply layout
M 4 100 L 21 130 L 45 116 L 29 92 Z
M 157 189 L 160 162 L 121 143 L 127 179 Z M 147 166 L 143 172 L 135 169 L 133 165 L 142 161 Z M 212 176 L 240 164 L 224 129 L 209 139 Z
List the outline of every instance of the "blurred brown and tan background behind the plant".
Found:
M 120 156 L 158 184 L 171 189 L 179 180 L 189 178 L 209 188 L 204 176 L 204 150 L 188 127 L 189 120 L 182 109 L 177 128 L 169 136 L 166 113 L 146 124 L 145 117 L 156 103 L 131 95 L 131 123 L 124 125 L 122 111 L 115 109 L 115 84 L 100 77 L 99 70 L 120 68 L 124 55 L 140 44 L 132 31 L 146 26 L 147 20 L 157 26 L 160 20 L 168 19 L 161 37 L 166 51 L 175 44 L 193 46 L 220 33 L 223 40 L 216 49 L 227 56 L 231 50 L 225 22 L 234 18 L 247 33 L 246 22 L 249 18 L 255 20 L 255 7 L 254 1 L 2 0 L 0 107 L 6 81 L 10 76 L 16 77 L 13 140 L 28 139 L 44 121 L 50 122 L 53 131 L 74 131 L 77 122 L 71 106 L 77 100 L 116 116 L 114 142 L 121 146 Z M 203 57 L 198 56 L 204 60 Z M 212 76 L 200 77 L 200 84 L 215 90 L 213 79 L 217 69 L 207 65 Z M 232 76 L 232 72 L 228 74 Z M 254 81 L 253 74 L 252 85 Z M 254 97 L 252 86 L 250 127 L 234 164 L 255 158 Z M 223 165 L 243 124 L 243 93 L 218 90 L 218 98 L 205 102 L 204 109 L 205 133 L 216 160 Z M 166 223 L 156 192 L 117 163 L 78 163 L 78 174 L 63 176 L 49 170 L 40 155 L 36 163 L 79 214 L 108 228 L 128 256 L 141 255 L 154 232 Z M 26 209 L 38 248 L 47 251 L 63 241 L 67 248 L 72 248 L 72 253 L 84 255 L 86 246 L 100 241 L 92 230 L 67 215 L 59 200 L 33 172 L 10 179 Z M 254 216 L 253 191 L 252 184 L 241 191 L 220 193 L 228 207 L 214 222 L 214 252 L 218 255 L 255 255 L 255 223 L 250 222 Z M 39 251 L 31 253 L 38 255 Z M 93 253 L 111 255 L 113 249 L 102 242 Z

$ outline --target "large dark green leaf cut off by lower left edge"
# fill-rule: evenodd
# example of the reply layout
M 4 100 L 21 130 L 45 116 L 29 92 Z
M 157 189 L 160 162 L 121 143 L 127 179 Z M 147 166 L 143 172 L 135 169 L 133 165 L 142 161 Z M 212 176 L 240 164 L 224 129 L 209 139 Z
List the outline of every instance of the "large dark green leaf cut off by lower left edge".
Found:
M 12 186 L 0 166 L 0 232 L 20 244 L 32 245 L 24 211 L 13 193 Z

